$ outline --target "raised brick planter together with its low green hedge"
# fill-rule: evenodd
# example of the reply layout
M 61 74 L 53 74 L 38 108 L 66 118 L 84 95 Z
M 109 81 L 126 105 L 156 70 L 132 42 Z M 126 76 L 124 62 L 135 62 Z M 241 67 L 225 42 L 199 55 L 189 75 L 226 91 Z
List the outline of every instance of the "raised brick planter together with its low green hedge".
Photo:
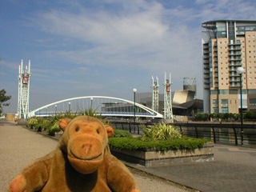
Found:
M 117 158 L 142 166 L 214 160 L 214 143 L 207 139 L 142 142 L 139 138 L 110 138 L 109 145 Z

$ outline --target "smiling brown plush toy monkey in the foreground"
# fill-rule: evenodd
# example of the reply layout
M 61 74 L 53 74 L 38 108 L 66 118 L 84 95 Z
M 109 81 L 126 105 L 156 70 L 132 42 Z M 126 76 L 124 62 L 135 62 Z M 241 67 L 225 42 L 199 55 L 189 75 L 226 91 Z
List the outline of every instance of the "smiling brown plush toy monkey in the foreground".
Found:
M 64 133 L 57 148 L 26 166 L 9 191 L 139 192 L 130 171 L 110 154 L 111 126 L 86 116 L 64 118 L 59 126 Z

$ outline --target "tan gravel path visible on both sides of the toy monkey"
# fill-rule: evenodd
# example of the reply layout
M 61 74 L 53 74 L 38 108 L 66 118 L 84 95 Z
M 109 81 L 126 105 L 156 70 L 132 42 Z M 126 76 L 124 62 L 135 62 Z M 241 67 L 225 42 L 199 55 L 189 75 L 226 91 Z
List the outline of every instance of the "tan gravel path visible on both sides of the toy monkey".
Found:
M 16 126 L 11 122 L 0 121 L 0 191 L 7 191 L 11 180 L 24 166 L 36 158 L 48 154 L 58 141 Z M 161 178 L 131 169 L 142 192 L 185 192 Z

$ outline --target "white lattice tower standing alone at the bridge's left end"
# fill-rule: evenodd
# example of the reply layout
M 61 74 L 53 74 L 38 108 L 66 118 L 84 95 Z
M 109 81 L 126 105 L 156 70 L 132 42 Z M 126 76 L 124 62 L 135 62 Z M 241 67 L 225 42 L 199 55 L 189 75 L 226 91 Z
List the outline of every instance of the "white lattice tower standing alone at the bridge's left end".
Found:
M 18 118 L 26 119 L 30 110 L 30 61 L 23 69 L 23 60 L 18 66 Z

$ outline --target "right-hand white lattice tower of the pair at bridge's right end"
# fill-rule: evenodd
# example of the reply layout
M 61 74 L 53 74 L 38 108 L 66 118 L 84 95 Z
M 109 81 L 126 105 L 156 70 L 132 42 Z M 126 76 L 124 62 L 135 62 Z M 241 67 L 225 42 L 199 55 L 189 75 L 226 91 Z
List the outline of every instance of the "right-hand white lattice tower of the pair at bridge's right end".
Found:
M 171 103 L 171 76 L 169 74 L 169 79 L 166 78 L 165 73 L 165 82 L 164 82 L 164 118 L 165 119 L 174 119 L 172 103 Z

